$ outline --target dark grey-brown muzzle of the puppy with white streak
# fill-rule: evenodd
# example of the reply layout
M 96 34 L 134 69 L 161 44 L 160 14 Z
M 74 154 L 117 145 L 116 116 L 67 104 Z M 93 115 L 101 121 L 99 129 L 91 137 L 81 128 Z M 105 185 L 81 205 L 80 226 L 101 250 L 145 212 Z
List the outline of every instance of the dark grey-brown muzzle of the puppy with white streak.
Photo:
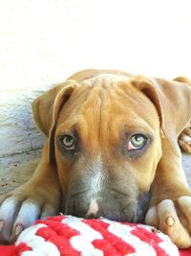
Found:
M 141 222 L 148 209 L 149 194 L 139 193 L 134 175 L 119 175 L 100 157 L 86 160 L 84 168 L 71 171 L 68 192 L 63 203 L 64 214 L 81 218 L 104 217 L 113 221 Z M 117 167 L 116 167 L 117 168 Z

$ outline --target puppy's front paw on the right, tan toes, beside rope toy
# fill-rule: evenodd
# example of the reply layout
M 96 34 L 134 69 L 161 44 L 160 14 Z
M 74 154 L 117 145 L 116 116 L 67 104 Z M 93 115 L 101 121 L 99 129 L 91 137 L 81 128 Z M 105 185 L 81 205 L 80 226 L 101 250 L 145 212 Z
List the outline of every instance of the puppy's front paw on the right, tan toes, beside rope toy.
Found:
M 157 227 L 180 248 L 191 245 L 191 197 L 164 199 L 149 209 L 145 223 Z

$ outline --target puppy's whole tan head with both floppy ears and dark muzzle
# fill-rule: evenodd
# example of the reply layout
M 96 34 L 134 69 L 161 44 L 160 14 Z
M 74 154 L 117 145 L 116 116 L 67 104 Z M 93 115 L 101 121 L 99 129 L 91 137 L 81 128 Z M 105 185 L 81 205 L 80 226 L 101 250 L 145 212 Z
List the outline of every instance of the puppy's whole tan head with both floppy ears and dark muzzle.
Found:
M 142 221 L 162 155 L 161 133 L 180 153 L 188 90 L 178 81 L 85 71 L 37 98 L 34 120 L 49 139 L 64 213 Z

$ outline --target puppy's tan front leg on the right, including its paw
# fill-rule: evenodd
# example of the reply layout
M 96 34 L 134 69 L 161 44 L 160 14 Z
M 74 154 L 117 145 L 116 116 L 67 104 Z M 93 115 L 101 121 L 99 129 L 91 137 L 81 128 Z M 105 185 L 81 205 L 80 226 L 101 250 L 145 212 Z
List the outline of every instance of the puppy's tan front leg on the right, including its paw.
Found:
M 191 245 L 191 191 L 181 157 L 163 140 L 163 156 L 151 188 L 151 205 L 145 222 L 159 228 L 180 247 Z

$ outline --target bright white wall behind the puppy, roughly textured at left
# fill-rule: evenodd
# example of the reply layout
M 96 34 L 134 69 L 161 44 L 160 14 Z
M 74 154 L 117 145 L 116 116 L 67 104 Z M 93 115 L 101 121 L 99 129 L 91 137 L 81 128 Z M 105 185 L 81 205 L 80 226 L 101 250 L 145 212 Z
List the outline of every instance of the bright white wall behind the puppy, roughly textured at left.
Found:
M 190 0 L 0 0 L 1 191 L 39 154 L 31 102 L 53 83 L 91 67 L 191 77 L 190 10 Z

